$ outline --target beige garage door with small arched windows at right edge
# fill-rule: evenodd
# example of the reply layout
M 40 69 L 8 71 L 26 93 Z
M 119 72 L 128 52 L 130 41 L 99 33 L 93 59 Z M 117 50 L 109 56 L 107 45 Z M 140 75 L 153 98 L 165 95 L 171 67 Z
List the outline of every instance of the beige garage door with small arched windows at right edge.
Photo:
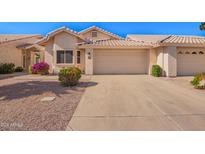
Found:
M 205 72 L 204 51 L 185 51 L 177 54 L 177 75 L 195 75 Z

